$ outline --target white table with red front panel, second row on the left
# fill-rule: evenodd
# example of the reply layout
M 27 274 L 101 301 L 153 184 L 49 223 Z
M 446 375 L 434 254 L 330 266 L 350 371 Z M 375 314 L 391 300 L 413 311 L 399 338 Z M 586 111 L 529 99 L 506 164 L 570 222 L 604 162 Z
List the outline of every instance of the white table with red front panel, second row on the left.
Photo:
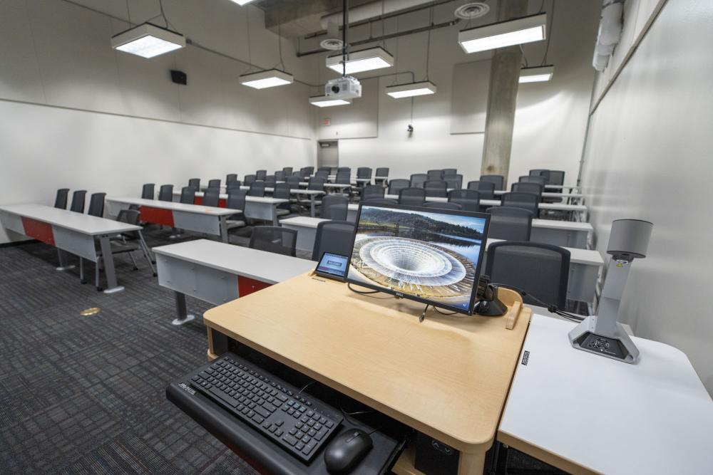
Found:
M 227 217 L 242 212 L 242 209 L 204 207 L 198 204 L 132 197 L 107 197 L 106 205 L 111 216 L 116 216 L 121 209 L 134 205 L 139 207 L 141 221 L 220 236 L 223 242 L 228 241 Z

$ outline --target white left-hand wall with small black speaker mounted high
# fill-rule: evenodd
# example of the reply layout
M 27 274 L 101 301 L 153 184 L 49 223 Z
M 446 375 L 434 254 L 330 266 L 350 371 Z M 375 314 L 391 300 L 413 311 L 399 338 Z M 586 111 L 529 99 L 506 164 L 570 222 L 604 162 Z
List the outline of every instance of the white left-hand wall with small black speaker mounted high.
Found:
M 83 3 L 126 18 L 123 0 Z M 164 5 L 188 38 L 244 60 L 250 11 L 253 63 L 279 63 L 277 36 L 264 29 L 260 9 Z M 140 23 L 158 14 L 158 2 L 130 1 L 130 12 Z M 194 46 L 150 60 L 113 51 L 111 36 L 125 28 L 65 1 L 0 2 L 0 203 L 51 204 L 61 187 L 137 195 L 145 182 L 180 185 L 314 163 L 306 85 L 247 88 L 238 76 L 248 66 Z M 282 49 L 287 71 L 309 82 L 312 69 L 292 42 Z M 188 74 L 187 86 L 170 82 L 174 68 Z

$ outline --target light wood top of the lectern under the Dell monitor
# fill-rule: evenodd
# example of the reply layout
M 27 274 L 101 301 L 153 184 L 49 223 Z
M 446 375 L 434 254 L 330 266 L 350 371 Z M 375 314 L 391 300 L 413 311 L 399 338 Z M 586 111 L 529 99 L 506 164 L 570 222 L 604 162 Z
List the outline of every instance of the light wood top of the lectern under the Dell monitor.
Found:
M 294 305 L 297 298 L 309 305 Z M 480 460 L 495 439 L 530 310 L 506 330 L 504 318 L 433 310 L 419 323 L 423 308 L 304 274 L 207 310 L 204 321 Z

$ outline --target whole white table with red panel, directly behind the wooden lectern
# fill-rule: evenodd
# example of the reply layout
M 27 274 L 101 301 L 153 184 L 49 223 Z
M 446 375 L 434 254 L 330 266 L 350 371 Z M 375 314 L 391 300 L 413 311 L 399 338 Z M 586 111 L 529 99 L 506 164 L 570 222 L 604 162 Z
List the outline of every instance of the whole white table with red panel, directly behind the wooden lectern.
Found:
M 185 296 L 220 305 L 314 270 L 316 262 L 207 239 L 153 248 L 158 283 L 175 291 L 178 318 L 193 320 Z

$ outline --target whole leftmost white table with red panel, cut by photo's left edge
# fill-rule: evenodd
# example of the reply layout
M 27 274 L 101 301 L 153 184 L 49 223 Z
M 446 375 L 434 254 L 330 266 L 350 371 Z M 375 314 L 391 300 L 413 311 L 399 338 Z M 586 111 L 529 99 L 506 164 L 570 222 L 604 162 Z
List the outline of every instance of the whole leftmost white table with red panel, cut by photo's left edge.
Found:
M 116 281 L 109 239 L 132 231 L 138 232 L 140 236 L 140 226 L 43 204 L 9 204 L 0 207 L 0 221 L 6 229 L 56 247 L 60 263 L 58 271 L 70 268 L 67 265 L 66 252 L 88 259 L 97 265 L 98 261 L 103 259 L 107 281 L 104 292 L 115 293 L 124 290 Z M 97 253 L 96 239 L 99 241 L 101 257 Z M 143 236 L 140 240 L 141 245 L 144 246 Z

